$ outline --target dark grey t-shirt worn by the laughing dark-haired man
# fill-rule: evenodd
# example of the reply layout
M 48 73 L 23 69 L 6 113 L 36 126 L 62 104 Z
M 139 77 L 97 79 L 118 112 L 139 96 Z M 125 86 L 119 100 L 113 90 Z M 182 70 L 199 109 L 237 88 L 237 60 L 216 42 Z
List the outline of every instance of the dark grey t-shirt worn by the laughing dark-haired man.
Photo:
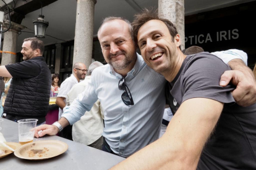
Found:
M 226 70 L 230 68 L 208 52 L 188 55 L 174 81 L 169 83 L 172 89 L 166 92 L 174 98 L 170 100 L 169 95 L 169 105 L 176 111 L 182 102 L 191 98 L 224 103 L 197 169 L 256 169 L 256 105 L 237 105 L 230 92 L 234 87 L 219 86 Z

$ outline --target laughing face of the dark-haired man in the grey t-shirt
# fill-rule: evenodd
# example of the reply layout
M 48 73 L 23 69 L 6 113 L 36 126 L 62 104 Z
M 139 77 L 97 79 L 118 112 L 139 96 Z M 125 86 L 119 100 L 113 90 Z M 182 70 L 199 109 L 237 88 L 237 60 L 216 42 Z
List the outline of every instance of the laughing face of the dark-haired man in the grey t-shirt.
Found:
M 173 38 L 162 21 L 150 20 L 139 28 L 137 39 L 147 65 L 164 77 L 170 74 L 179 60 L 179 34 Z

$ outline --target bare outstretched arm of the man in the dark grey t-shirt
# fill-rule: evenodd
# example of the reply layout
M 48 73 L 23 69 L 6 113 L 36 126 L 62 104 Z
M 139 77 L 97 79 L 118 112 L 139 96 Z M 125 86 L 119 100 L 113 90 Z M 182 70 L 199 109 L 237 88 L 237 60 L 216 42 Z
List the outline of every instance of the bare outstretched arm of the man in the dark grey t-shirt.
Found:
M 171 119 L 163 137 L 113 169 L 196 169 L 203 146 L 222 109 L 223 103 L 216 100 L 186 100 Z

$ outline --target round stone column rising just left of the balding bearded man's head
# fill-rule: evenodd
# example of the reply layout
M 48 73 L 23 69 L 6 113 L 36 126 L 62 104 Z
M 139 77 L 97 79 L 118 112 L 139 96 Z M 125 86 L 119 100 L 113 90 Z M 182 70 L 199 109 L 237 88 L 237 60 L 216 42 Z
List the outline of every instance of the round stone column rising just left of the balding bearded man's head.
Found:
M 81 62 L 87 69 L 92 63 L 95 4 L 96 0 L 77 0 L 73 65 Z

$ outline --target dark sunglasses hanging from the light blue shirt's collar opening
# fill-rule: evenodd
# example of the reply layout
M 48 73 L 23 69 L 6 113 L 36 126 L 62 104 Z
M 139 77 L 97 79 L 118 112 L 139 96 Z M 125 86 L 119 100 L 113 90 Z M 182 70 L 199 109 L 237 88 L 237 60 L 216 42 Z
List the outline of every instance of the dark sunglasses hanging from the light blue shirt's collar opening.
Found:
M 122 102 L 124 102 L 127 106 L 134 105 L 134 100 L 132 99 L 132 94 L 130 94 L 129 88 L 126 86 L 125 78 L 120 79 L 118 83 L 118 88 L 119 90 L 124 91 L 121 95 Z

